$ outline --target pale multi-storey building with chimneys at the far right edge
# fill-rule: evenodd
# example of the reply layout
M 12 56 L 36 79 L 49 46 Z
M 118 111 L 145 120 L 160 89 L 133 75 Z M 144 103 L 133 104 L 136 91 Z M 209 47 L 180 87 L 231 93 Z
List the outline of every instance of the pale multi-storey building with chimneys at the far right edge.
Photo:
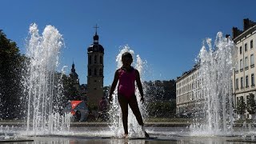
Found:
M 246 18 L 243 20 L 243 30 L 232 29 L 232 38 L 237 47 L 237 64 L 233 71 L 234 107 L 238 106 L 238 99 L 243 98 L 247 103 L 249 96 L 255 96 L 255 55 L 256 55 L 256 22 Z M 255 100 L 255 97 L 254 97 Z M 246 113 L 246 118 L 249 114 Z

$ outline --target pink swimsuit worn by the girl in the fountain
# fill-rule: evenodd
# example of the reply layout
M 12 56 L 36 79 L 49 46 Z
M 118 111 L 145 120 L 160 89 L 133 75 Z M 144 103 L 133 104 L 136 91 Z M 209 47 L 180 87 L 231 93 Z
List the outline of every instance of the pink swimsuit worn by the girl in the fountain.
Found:
M 126 70 L 122 70 L 120 68 L 118 70 L 119 74 L 119 83 L 118 83 L 118 94 L 124 95 L 126 98 L 130 98 L 135 93 L 135 70 L 132 68 L 130 72 Z

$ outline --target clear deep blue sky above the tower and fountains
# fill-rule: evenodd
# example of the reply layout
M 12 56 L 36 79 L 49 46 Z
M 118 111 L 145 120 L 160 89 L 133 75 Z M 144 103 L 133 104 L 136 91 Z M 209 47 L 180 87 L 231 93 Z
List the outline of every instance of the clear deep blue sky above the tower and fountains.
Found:
M 111 84 L 120 47 L 128 45 L 147 61 L 143 80 L 170 80 L 194 65 L 206 38 L 218 31 L 242 30 L 242 20 L 256 22 L 254 0 L 5 0 L 1 1 L 0 29 L 25 52 L 31 23 L 39 33 L 52 25 L 62 34 L 60 66 L 71 68 L 73 59 L 80 83 L 86 83 L 87 48 L 98 24 L 105 48 L 104 86 Z M 67 70 L 70 72 L 70 70 Z

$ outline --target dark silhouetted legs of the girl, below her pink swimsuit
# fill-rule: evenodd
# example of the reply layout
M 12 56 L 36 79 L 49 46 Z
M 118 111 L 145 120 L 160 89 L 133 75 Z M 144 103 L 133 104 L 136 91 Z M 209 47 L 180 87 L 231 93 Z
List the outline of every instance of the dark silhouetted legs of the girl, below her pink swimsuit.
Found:
M 130 106 L 130 109 L 133 111 L 138 121 L 138 124 L 140 126 L 143 125 L 142 114 L 138 109 L 138 102 L 137 102 L 136 95 L 133 95 L 131 98 L 128 99 L 124 95 L 118 94 L 118 102 L 122 110 L 122 125 L 125 130 L 125 134 L 128 134 L 128 104 Z

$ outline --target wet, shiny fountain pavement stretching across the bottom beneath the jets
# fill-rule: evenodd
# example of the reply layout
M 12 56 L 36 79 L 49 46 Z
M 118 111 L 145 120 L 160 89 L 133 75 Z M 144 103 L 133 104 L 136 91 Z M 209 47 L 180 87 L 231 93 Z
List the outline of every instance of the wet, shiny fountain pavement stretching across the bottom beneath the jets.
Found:
M 8 128 L 7 132 L 6 129 Z M 0 128 L 1 129 L 1 128 Z M 1 131 L 2 130 L 2 131 Z M 130 138 L 114 137 L 114 132 L 106 126 L 79 126 L 70 127 L 69 131 L 58 131 L 54 134 L 37 134 L 33 132 L 26 133 L 22 127 L 2 127 L 0 130 L 1 143 L 27 143 L 27 144 L 76 144 L 76 143 L 106 143 L 106 144 L 246 144 L 256 143 L 254 135 L 255 130 L 246 131 L 236 129 L 233 134 L 218 136 L 203 134 L 191 135 L 188 127 L 162 127 L 162 126 L 147 126 L 146 130 L 150 134 L 150 138 L 137 137 L 136 135 Z

